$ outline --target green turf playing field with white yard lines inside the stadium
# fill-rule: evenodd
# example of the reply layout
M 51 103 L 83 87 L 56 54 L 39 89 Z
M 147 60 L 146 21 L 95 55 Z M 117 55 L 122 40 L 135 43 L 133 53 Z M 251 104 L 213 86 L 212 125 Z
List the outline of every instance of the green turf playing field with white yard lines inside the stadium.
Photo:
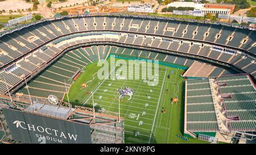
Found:
M 207 143 L 196 139 L 185 141 L 177 137 L 183 131 L 184 80 L 180 77 L 183 70 L 159 65 L 158 85 L 148 86 L 142 79 L 100 80 L 97 78 L 100 68 L 97 62 L 84 68 L 84 73 L 69 89 L 69 100 L 73 106 L 87 107 L 92 107 L 94 100 L 97 108 L 118 112 L 119 94 L 115 89 L 127 86 L 134 89 L 131 100 L 126 97 L 121 99 L 121 116 L 125 118 L 125 143 Z M 167 74 L 170 74 L 169 79 Z M 82 88 L 82 83 L 88 86 Z M 91 95 L 86 95 L 86 91 L 94 92 L 93 100 Z M 175 95 L 179 102 L 171 104 L 171 98 Z M 67 97 L 64 100 L 67 101 Z M 161 111 L 163 107 L 165 114 Z

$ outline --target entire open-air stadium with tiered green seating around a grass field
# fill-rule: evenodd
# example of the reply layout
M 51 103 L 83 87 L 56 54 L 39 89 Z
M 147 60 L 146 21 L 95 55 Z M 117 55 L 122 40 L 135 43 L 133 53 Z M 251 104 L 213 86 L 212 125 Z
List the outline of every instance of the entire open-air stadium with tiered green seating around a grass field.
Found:
M 59 16 L 2 32 L 0 140 L 253 143 L 255 40 L 246 26 L 126 14 Z M 158 60 L 158 85 L 97 79 L 97 62 L 111 58 Z M 118 99 L 121 87 L 133 90 L 130 100 Z

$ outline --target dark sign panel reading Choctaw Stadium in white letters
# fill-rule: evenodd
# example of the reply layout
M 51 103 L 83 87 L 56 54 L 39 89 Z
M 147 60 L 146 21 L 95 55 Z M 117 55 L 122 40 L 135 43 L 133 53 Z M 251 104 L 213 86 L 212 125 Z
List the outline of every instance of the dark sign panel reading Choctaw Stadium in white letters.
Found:
M 92 143 L 89 125 L 3 108 L 13 139 L 24 143 Z

